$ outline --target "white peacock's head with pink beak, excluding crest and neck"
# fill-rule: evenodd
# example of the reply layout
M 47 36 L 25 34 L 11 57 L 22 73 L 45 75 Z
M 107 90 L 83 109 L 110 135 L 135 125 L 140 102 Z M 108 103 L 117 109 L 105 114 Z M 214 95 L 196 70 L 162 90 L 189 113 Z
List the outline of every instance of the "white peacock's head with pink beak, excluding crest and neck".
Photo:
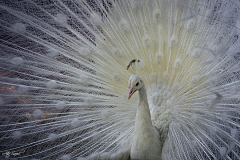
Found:
M 143 78 L 137 74 L 133 74 L 128 80 L 129 94 L 128 99 L 143 86 Z

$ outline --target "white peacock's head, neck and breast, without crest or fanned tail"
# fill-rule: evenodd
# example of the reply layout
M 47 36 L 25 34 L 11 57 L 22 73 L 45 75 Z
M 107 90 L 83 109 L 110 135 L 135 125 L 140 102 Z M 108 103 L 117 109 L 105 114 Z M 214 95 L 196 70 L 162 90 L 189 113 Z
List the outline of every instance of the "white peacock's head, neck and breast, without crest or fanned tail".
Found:
M 147 93 L 142 77 L 132 75 L 129 79 L 129 96 L 138 91 L 139 103 L 131 142 L 131 159 L 161 159 L 161 141 L 158 131 L 152 126 Z M 129 99 L 130 99 L 129 97 Z

